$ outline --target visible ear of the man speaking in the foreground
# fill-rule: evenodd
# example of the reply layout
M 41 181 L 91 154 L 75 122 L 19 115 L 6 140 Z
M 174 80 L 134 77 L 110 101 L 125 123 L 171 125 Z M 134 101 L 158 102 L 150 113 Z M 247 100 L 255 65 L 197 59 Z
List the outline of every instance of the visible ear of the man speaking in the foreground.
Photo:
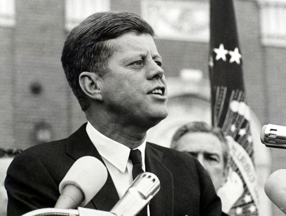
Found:
M 101 81 L 99 75 L 93 72 L 81 72 L 80 88 L 90 98 L 102 101 Z

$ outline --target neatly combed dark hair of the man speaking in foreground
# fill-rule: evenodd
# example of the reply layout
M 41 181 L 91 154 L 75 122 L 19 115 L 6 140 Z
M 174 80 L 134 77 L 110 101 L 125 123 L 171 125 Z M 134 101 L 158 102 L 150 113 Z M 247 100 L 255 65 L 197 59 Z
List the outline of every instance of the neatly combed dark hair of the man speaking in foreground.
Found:
M 95 13 L 69 33 L 64 43 L 61 61 L 69 85 L 83 111 L 89 107 L 89 100 L 80 88 L 80 73 L 95 72 L 102 76 L 108 72 L 108 59 L 113 55 L 115 48 L 106 40 L 131 31 L 154 36 L 152 27 L 146 21 L 138 15 L 126 12 Z

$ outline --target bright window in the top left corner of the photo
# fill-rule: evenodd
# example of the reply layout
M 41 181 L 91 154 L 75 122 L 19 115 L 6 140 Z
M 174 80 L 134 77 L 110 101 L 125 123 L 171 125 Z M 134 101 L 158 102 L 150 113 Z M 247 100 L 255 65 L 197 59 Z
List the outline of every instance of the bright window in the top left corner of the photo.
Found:
M 15 1 L 1 0 L 0 1 L 0 26 L 15 25 Z

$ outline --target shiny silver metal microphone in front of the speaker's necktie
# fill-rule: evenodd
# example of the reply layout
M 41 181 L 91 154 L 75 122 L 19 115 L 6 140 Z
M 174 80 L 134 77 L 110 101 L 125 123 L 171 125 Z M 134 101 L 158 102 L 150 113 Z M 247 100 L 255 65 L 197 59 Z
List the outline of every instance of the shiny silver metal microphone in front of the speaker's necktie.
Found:
M 159 190 L 160 181 L 155 174 L 141 173 L 110 212 L 116 216 L 137 215 Z

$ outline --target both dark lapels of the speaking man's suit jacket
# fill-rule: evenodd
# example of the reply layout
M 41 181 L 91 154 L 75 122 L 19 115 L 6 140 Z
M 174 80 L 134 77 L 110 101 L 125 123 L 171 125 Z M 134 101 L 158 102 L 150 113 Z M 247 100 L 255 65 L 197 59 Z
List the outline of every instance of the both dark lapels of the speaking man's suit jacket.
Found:
M 74 160 L 83 156 L 93 156 L 105 164 L 94 144 L 86 133 L 86 124 L 83 124 L 69 138 L 66 145 L 66 154 Z M 149 143 L 145 149 L 146 171 L 154 173 L 160 180 L 160 190 L 150 202 L 151 216 L 174 215 L 174 185 L 170 171 L 162 163 L 163 153 Z M 119 200 L 114 183 L 108 172 L 107 181 L 94 198 L 85 206 L 102 211 L 110 211 Z

